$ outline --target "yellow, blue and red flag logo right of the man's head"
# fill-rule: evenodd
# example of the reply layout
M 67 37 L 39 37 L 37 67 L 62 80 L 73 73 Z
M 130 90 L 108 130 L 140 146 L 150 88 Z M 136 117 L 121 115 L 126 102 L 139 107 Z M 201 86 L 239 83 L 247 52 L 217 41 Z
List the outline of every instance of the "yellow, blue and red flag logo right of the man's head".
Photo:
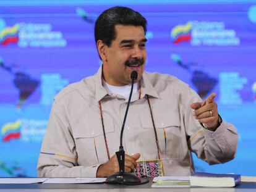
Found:
M 182 41 L 190 41 L 192 23 L 187 22 L 185 25 L 177 25 L 171 30 L 171 38 L 173 43 L 181 43 Z

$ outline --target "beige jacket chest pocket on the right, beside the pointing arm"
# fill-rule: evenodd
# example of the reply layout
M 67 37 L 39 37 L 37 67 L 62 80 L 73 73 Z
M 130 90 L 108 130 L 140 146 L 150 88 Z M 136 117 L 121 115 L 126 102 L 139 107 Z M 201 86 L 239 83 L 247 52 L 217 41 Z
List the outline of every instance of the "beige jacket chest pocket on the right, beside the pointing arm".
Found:
M 183 154 L 181 121 L 178 112 L 153 115 L 161 158 L 181 159 Z M 140 115 L 143 128 L 153 128 L 153 122 Z

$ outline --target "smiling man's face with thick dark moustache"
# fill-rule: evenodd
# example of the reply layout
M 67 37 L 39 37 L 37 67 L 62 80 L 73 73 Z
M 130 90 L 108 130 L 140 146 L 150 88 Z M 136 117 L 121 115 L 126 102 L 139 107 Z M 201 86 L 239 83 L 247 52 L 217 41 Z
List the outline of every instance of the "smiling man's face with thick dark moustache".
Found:
M 110 85 L 124 86 L 132 82 L 132 71 L 138 72 L 137 81 L 142 77 L 147 59 L 147 39 L 141 26 L 116 25 L 115 29 L 116 39 L 111 46 L 105 46 L 103 77 Z

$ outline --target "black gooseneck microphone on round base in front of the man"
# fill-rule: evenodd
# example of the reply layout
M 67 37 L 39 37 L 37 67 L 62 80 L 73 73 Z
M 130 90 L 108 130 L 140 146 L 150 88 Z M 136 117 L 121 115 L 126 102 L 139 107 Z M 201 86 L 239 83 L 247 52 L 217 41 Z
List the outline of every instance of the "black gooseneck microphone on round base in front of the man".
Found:
M 110 175 L 108 178 L 106 178 L 105 183 L 108 184 L 141 185 L 144 183 L 148 183 L 148 178 L 139 178 L 135 176 L 134 173 L 124 172 L 125 151 L 124 147 L 122 146 L 122 134 L 124 132 L 124 125 L 126 124 L 126 117 L 129 110 L 130 99 L 132 98 L 134 81 L 138 78 L 138 72 L 135 70 L 132 71 L 132 73 L 130 73 L 130 78 L 132 79 L 132 87 L 130 88 L 130 95 L 126 107 L 126 114 L 124 114 L 124 122 L 122 122 L 119 151 L 116 152 L 119 164 L 119 172 L 114 173 L 113 175 Z

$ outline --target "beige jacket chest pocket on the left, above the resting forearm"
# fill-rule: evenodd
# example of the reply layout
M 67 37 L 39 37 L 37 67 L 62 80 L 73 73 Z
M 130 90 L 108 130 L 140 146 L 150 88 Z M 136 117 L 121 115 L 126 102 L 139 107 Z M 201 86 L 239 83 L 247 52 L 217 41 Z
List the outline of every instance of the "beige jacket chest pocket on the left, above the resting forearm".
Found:
M 114 123 L 111 117 L 104 119 L 104 128 L 108 140 L 109 134 L 114 132 Z M 88 117 L 80 120 L 73 128 L 73 136 L 79 165 L 91 166 L 108 161 L 100 118 Z

